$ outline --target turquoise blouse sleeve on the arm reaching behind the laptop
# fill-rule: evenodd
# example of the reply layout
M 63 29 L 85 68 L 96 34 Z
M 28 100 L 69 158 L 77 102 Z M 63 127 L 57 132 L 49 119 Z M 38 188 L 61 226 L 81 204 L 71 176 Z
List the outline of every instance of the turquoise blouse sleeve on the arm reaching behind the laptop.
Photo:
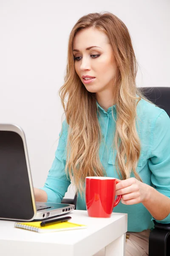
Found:
M 59 133 L 59 143 L 55 152 L 55 158 L 43 189 L 48 196 L 47 202 L 60 203 L 67 192 L 71 180 L 65 173 L 66 154 L 66 121 L 62 123 L 62 130 Z

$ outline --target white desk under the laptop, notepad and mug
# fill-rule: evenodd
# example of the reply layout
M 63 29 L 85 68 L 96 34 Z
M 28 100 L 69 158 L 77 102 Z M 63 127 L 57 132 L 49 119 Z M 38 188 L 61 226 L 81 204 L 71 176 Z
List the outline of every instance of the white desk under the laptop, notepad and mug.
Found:
M 74 210 L 68 215 L 72 222 L 85 224 L 87 229 L 36 233 L 14 228 L 15 221 L 0 220 L 0 255 L 125 256 L 127 214 L 90 218 L 87 211 Z

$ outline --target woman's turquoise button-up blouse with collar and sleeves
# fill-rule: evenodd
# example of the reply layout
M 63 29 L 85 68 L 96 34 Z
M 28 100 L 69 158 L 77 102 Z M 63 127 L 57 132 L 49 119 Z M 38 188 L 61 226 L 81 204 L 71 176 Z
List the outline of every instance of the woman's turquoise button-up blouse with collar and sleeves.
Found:
M 115 154 L 111 144 L 115 129 L 116 105 L 108 108 L 106 112 L 96 102 L 99 108 L 98 120 L 102 131 L 102 143 L 99 157 L 108 177 L 119 178 L 115 166 Z M 112 108 L 113 115 L 112 116 Z M 153 186 L 160 193 L 170 198 L 170 118 L 159 107 L 142 99 L 137 105 L 137 131 L 141 140 L 141 154 L 137 165 L 137 172 L 144 183 Z M 47 202 L 60 203 L 67 192 L 71 181 L 65 174 L 66 141 L 68 124 L 62 123 L 63 132 L 59 134 L 59 143 L 55 152 L 55 159 L 49 170 L 44 187 L 48 195 Z M 131 177 L 134 177 L 132 174 Z M 85 195 L 78 195 L 77 209 L 86 210 Z M 114 207 L 113 212 L 128 214 L 128 227 L 130 232 L 141 232 L 153 227 L 153 217 L 142 203 L 124 205 L 121 202 Z M 161 221 L 170 223 L 170 214 Z

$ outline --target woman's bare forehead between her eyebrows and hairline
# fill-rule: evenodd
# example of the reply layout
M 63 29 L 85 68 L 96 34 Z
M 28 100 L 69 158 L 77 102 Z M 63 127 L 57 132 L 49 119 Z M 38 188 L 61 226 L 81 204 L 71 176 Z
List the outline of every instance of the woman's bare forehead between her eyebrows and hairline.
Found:
M 74 49 L 83 50 L 93 45 L 104 48 L 108 44 L 107 35 L 94 28 L 82 29 L 74 37 Z

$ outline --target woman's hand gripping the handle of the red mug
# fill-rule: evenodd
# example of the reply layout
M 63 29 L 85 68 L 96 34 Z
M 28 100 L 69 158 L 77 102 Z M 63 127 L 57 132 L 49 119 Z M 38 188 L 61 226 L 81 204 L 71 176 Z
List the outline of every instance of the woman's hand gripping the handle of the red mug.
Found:
M 147 201 L 150 197 L 151 186 L 142 183 L 136 178 L 119 180 L 116 184 L 116 195 L 122 195 L 122 204 L 139 204 Z

